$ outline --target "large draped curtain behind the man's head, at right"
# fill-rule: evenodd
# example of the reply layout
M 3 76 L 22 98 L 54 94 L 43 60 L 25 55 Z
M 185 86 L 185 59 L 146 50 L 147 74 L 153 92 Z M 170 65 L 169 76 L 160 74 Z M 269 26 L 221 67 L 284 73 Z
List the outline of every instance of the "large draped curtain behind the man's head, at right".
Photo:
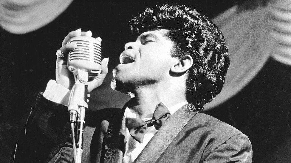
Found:
M 269 56 L 291 65 L 291 1 L 248 1 L 213 19 L 223 32 L 230 55 L 225 85 L 205 110 L 237 94 L 261 70 Z

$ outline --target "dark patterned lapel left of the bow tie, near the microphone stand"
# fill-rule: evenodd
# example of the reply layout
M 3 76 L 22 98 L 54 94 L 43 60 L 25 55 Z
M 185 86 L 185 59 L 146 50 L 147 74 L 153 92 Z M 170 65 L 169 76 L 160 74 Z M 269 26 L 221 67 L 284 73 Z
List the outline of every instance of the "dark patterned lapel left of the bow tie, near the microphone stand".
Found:
M 124 110 L 115 116 L 109 123 L 108 130 L 103 140 L 104 162 L 122 162 L 125 151 L 124 138 L 126 133 Z

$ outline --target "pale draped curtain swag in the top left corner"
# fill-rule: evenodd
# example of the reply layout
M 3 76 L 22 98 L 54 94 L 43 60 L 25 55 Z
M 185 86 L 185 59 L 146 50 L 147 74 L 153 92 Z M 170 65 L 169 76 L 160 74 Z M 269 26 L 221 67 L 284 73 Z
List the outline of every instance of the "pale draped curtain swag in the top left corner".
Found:
M 35 31 L 58 17 L 73 0 L 1 0 L 1 27 L 13 34 Z

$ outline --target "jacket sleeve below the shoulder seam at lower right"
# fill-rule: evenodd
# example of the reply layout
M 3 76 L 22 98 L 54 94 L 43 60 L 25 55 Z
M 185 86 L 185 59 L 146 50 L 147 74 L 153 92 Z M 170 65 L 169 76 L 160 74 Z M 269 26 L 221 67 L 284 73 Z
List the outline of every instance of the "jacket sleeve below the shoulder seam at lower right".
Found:
M 203 162 L 252 162 L 252 145 L 244 134 L 236 134 L 217 146 Z

